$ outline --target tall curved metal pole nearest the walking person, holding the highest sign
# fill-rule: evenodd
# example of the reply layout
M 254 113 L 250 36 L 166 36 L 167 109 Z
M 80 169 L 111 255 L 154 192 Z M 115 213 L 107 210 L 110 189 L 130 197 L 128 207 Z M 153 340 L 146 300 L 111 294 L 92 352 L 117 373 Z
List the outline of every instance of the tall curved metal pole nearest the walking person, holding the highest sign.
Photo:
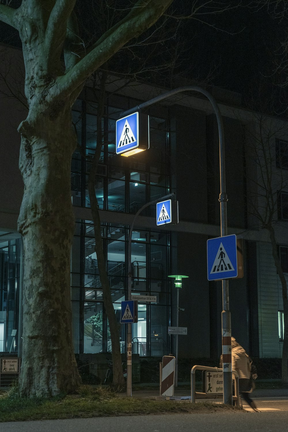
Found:
M 139 109 L 146 108 L 169 96 L 175 95 L 180 92 L 194 91 L 205 95 L 211 102 L 213 109 L 216 114 L 218 130 L 219 130 L 219 153 L 220 153 L 220 216 L 221 216 L 221 237 L 227 235 L 227 194 L 225 191 L 225 147 L 224 147 L 224 131 L 222 116 L 219 110 L 219 106 L 213 96 L 202 89 L 199 86 L 184 86 L 178 87 L 177 89 L 163 93 L 156 98 L 150 99 L 149 101 L 143 102 L 137 105 L 121 115 L 131 114 Z M 228 280 L 222 280 L 222 305 L 223 310 L 221 314 L 222 320 L 222 354 L 223 354 L 223 402 L 232 405 L 232 359 L 231 359 L 231 314 L 229 311 L 229 283 Z

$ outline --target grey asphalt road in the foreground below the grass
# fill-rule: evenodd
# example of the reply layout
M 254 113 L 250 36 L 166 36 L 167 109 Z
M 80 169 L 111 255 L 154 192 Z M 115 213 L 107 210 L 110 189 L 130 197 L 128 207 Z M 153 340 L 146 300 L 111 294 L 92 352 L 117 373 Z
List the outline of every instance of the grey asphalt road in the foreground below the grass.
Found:
M 287 430 L 287 412 L 167 414 L 0 423 L 1 432 L 270 432 Z

